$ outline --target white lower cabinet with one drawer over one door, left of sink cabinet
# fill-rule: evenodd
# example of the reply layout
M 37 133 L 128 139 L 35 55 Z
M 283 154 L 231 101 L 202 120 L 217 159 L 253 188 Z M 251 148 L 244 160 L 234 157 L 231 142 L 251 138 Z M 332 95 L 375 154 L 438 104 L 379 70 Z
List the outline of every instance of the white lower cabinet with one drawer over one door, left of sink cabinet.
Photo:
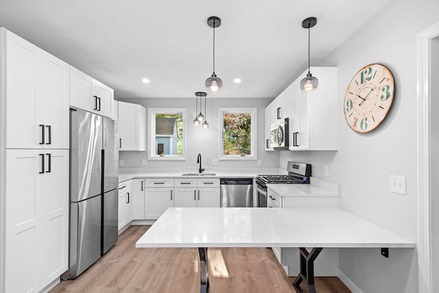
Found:
M 157 220 L 174 207 L 174 178 L 145 179 L 145 220 Z

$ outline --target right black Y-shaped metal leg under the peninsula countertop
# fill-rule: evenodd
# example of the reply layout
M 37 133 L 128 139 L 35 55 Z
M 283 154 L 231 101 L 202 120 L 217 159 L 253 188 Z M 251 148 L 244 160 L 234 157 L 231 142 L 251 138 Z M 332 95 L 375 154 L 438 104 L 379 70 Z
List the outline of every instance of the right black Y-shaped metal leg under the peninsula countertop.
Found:
M 300 272 L 293 282 L 296 292 L 302 292 L 300 289 L 300 283 L 305 281 L 305 283 L 307 283 L 309 293 L 316 293 L 316 287 L 314 285 L 314 261 L 322 249 L 323 248 L 313 248 L 311 249 L 311 253 L 308 253 L 306 248 L 299 248 Z

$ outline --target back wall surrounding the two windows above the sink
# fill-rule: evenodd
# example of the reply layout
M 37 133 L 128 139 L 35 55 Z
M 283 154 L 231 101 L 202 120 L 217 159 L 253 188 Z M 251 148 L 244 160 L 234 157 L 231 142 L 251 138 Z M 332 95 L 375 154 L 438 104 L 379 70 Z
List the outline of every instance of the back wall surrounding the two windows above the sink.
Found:
M 143 166 L 143 159 L 147 159 L 147 152 L 119 152 L 119 160 L 123 160 L 121 168 L 180 168 L 188 167 L 196 171 L 198 168 L 197 155 L 202 154 L 202 165 L 209 171 L 211 159 L 219 159 L 219 108 L 220 107 L 257 107 L 257 158 L 262 160 L 258 166 L 256 160 L 249 161 L 218 161 L 215 168 L 278 168 L 278 153 L 264 151 L 264 109 L 272 102 L 272 99 L 209 99 L 206 97 L 206 113 L 204 113 L 204 99 L 202 113 L 206 115 L 209 128 L 194 126 L 195 96 L 187 99 L 120 99 L 123 102 L 141 104 L 145 108 L 186 108 L 186 160 L 185 161 L 147 161 Z M 149 139 L 149 138 L 148 138 Z M 147 147 L 149 147 L 149 143 Z

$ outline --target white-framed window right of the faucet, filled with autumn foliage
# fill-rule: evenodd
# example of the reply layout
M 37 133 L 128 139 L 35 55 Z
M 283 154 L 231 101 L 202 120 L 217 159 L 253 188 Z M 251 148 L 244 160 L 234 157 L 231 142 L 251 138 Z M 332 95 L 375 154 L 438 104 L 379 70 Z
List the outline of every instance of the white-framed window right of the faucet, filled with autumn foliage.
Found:
M 255 160 L 257 108 L 221 108 L 220 159 Z

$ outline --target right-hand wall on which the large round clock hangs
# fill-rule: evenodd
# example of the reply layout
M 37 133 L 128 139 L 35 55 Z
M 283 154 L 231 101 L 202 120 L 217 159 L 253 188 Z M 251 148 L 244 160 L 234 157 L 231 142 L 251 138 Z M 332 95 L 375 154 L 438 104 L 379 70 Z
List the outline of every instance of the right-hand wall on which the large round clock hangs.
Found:
M 281 167 L 292 159 L 305 161 L 313 165 L 313 176 L 339 183 L 342 209 L 413 242 L 418 233 L 416 36 L 438 21 L 437 0 L 394 0 L 385 6 L 320 64 L 338 67 L 339 150 L 280 155 Z M 395 98 L 377 130 L 358 134 L 344 120 L 344 93 L 353 75 L 375 62 L 394 74 Z M 390 175 L 407 178 L 407 195 L 390 192 Z M 340 270 L 365 293 L 418 292 L 413 249 L 390 249 L 388 259 L 379 249 L 340 249 Z

